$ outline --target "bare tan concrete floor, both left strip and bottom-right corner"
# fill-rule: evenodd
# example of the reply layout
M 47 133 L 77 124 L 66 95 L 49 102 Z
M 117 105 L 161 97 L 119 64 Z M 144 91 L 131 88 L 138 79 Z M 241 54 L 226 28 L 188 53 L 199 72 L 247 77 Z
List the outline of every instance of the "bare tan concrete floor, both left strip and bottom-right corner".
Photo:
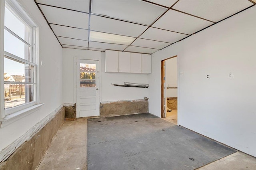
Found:
M 87 119 L 66 121 L 38 170 L 87 170 Z M 236 152 L 198 170 L 256 170 L 256 158 Z

